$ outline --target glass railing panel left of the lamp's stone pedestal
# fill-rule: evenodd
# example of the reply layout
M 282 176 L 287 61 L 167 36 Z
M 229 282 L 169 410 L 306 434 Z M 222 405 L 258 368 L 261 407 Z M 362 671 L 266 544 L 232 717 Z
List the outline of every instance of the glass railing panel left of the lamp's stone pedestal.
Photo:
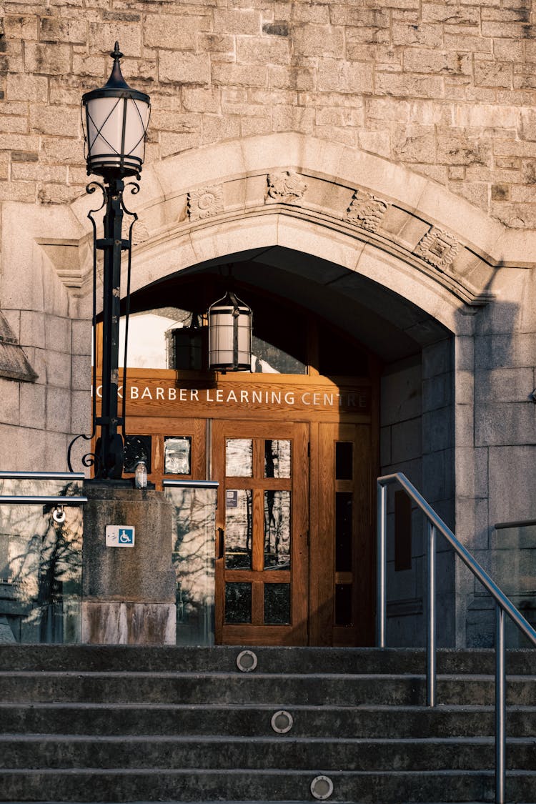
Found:
M 0 642 L 80 642 L 82 506 L 47 498 L 81 495 L 82 476 L 0 473 Z

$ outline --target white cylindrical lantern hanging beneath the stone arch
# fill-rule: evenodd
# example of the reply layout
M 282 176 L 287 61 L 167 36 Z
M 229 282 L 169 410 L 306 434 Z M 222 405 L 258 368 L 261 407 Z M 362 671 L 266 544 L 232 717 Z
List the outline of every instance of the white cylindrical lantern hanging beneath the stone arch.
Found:
M 232 291 L 208 309 L 208 367 L 251 371 L 252 311 Z

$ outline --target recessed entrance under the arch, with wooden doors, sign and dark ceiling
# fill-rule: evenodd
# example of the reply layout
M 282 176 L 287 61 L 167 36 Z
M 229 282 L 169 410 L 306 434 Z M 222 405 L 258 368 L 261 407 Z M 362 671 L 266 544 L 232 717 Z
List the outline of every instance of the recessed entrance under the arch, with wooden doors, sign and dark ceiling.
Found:
M 342 290 L 315 283 L 320 270 L 338 272 Z M 219 482 L 217 642 L 373 643 L 382 376 L 419 363 L 423 349 L 390 316 L 414 317 L 428 345 L 448 333 L 347 273 L 275 247 L 195 265 L 133 294 L 127 475 L 144 449 L 157 487 L 164 478 Z M 252 371 L 209 372 L 178 334 L 200 324 L 229 283 L 253 310 Z M 203 347 L 203 326 L 198 336 Z

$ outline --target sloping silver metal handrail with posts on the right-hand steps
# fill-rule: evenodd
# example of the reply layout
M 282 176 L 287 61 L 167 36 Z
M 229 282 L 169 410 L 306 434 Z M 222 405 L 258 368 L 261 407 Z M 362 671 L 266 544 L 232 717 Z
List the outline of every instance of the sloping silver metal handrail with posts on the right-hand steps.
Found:
M 385 647 L 387 623 L 386 605 L 386 568 L 387 568 L 387 486 L 398 484 L 423 511 L 428 525 L 428 615 L 427 615 L 427 706 L 436 705 L 436 531 L 447 539 L 456 555 L 465 566 L 481 582 L 495 601 L 496 638 L 495 638 L 495 802 L 505 802 L 505 752 L 506 752 L 506 699 L 505 699 L 505 614 L 525 634 L 526 638 L 536 646 L 536 630 L 526 621 L 522 613 L 516 609 L 505 593 L 499 589 L 495 581 L 485 569 L 473 558 L 467 548 L 456 539 L 443 519 L 427 503 L 422 494 L 407 479 L 405 474 L 396 472 L 378 478 L 378 599 L 377 616 L 378 647 Z

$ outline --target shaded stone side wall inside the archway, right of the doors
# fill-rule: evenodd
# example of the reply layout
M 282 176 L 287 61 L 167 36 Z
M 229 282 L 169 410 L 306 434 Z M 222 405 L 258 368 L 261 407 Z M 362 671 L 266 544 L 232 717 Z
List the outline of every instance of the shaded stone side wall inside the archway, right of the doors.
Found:
M 402 472 L 442 519 L 455 523 L 454 374 L 452 340 L 423 348 L 422 355 L 391 364 L 382 379 L 380 449 L 382 474 Z M 387 638 L 391 645 L 423 645 L 426 639 L 427 531 L 413 506 L 411 568 L 395 569 L 394 496 L 389 493 L 387 542 Z M 444 539 L 437 541 L 437 638 L 456 644 L 453 592 L 456 564 Z M 464 619 L 463 619 L 464 621 Z

